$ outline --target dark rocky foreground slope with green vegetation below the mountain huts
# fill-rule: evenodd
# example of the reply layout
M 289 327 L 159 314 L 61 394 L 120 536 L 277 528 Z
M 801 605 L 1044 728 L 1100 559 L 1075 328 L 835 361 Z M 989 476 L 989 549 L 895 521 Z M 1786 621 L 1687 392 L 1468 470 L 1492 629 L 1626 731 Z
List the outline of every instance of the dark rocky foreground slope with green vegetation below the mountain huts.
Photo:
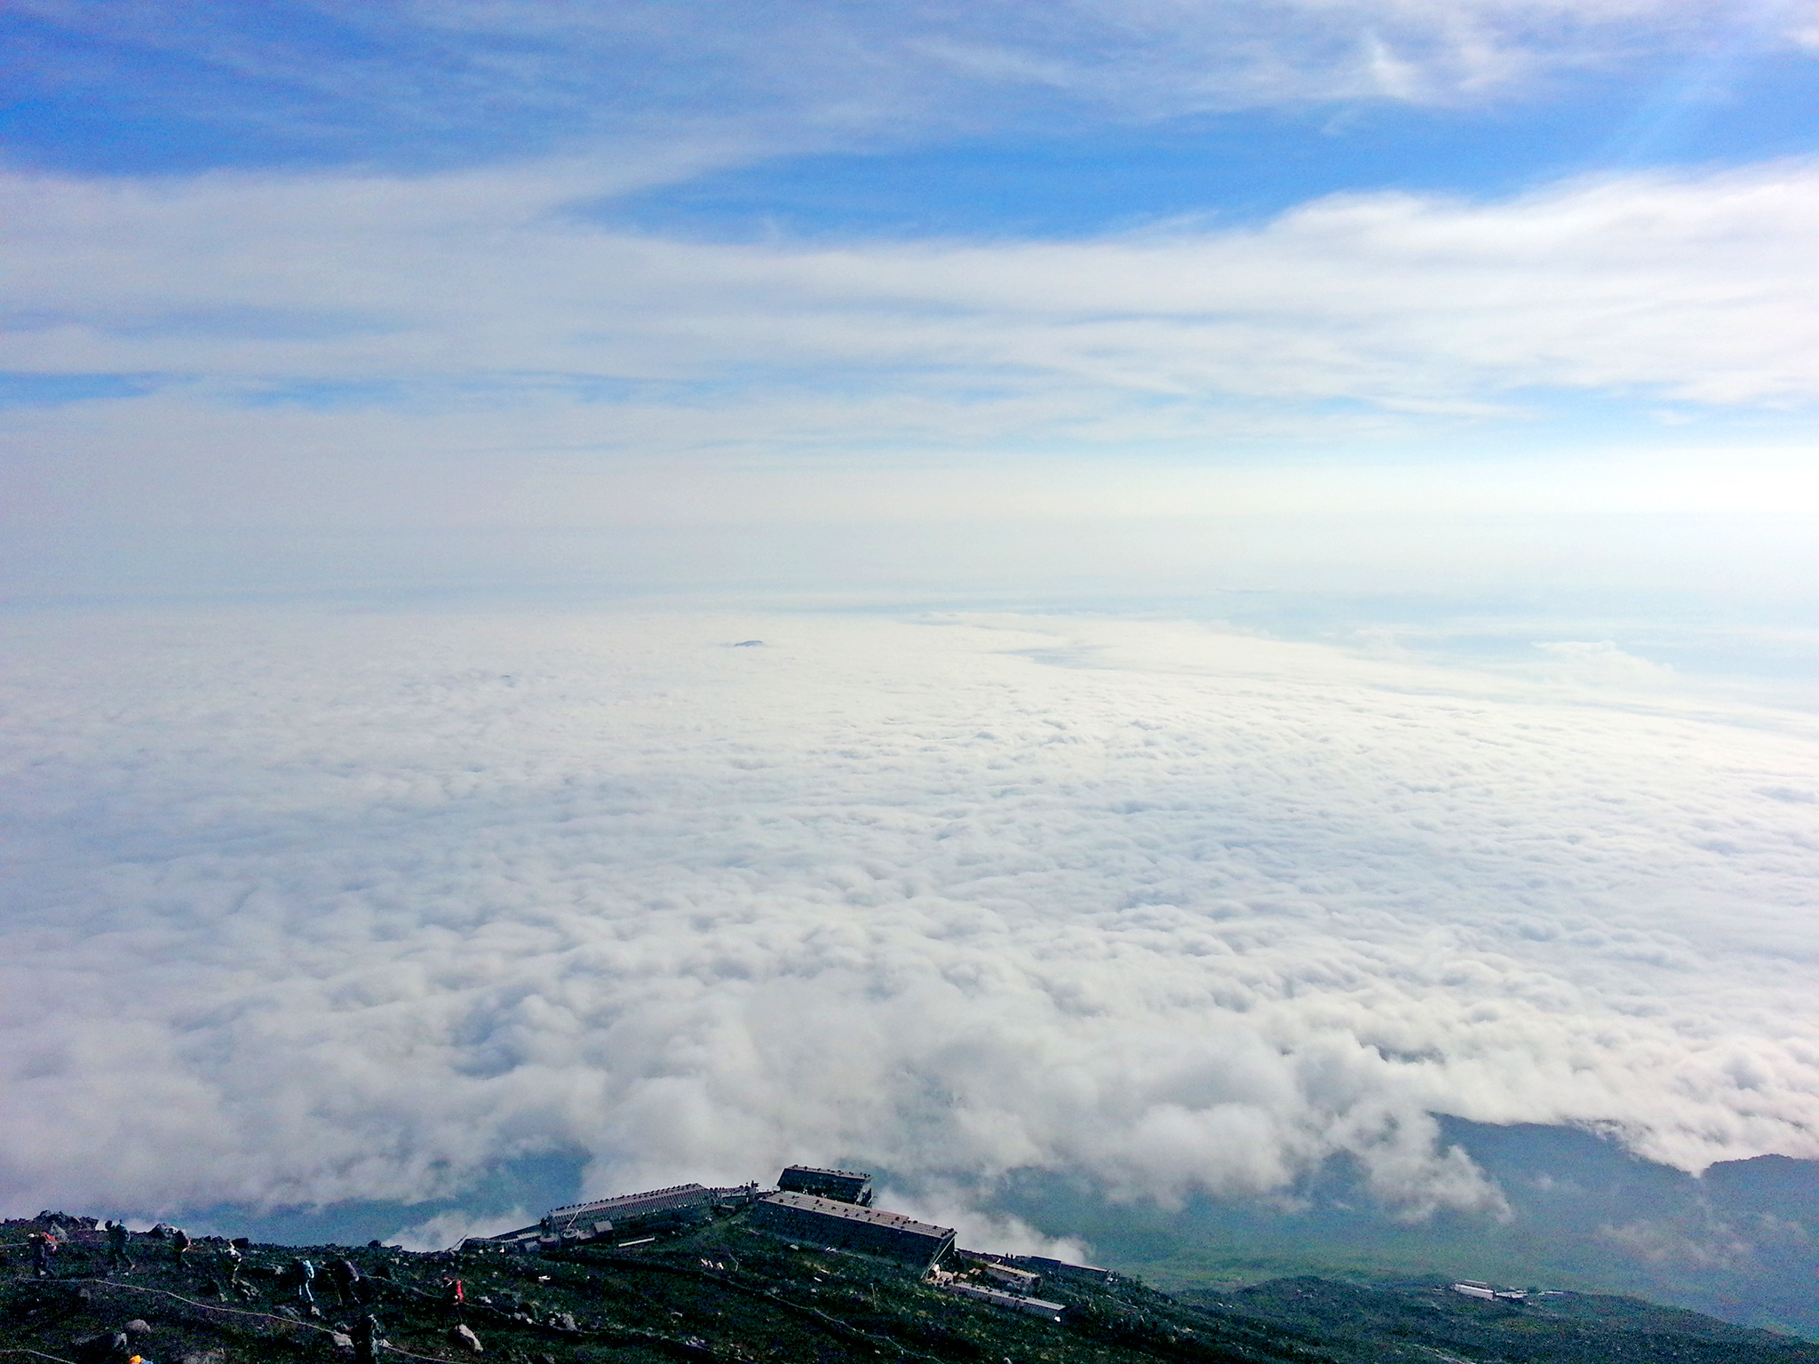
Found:
M 242 1271 L 246 1293 L 224 1280 L 222 1242 L 200 1242 L 180 1262 L 169 1242 L 140 1235 L 131 1246 L 136 1268 L 109 1277 L 106 1237 L 85 1229 L 53 1257 L 53 1277 L 38 1279 L 27 1249 L 36 1229 L 0 1226 L 0 1359 L 7 1364 L 115 1364 L 109 1342 L 133 1319 L 151 1326 L 131 1344 L 146 1364 L 327 1364 L 353 1359 L 351 1328 L 367 1313 L 380 1322 L 378 1359 L 387 1364 L 1819 1364 L 1819 1346 L 1633 1299 L 1475 1302 L 1432 1282 L 1359 1286 L 1302 1277 L 1170 1297 L 1135 1280 L 1051 1277 L 1042 1297 L 1064 1313 L 1044 1320 L 955 1299 L 889 1260 L 795 1248 L 755 1231 L 742 1213 L 637 1248 L 582 1246 L 542 1257 L 253 1246 Z M 296 1257 L 347 1259 L 360 1269 L 366 1302 L 342 1306 L 318 1277 L 320 1317 L 311 1315 L 298 1291 L 282 1286 Z M 458 1306 L 447 1289 L 457 1279 Z

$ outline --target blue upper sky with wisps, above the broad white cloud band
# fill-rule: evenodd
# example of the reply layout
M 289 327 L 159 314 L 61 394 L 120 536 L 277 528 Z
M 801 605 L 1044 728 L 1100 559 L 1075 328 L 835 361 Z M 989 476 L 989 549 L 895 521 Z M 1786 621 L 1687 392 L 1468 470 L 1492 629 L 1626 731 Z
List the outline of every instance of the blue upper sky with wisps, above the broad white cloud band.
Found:
M 1171 215 L 1812 149 L 1797 5 L 1422 11 L 1075 4 L 1048 25 L 1017 5 L 22 4 L 5 129 L 15 162 L 144 175 L 435 169 L 749 120 L 833 153 L 768 158 L 739 186 L 755 211 L 842 189 L 946 204 L 946 165 L 962 231 L 1026 229 L 1031 191 Z M 1401 80 L 1357 71 L 1373 47 Z M 793 56 L 820 65 L 780 71 Z

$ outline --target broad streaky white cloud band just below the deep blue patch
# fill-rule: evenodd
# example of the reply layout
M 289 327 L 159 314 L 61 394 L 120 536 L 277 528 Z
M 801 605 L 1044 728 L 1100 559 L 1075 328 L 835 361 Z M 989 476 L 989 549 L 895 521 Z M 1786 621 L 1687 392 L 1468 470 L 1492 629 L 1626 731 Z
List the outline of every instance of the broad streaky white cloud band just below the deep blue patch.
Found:
M 799 389 L 797 438 L 815 431 L 820 393 L 857 389 L 895 395 L 882 438 L 986 396 L 973 431 L 1040 433 L 1046 418 L 1124 440 L 1204 429 L 1219 402 L 1477 415 L 1561 387 L 1772 404 L 1812 400 L 1819 373 L 1803 307 L 1819 173 L 1804 162 L 1501 204 L 1341 196 L 1261 229 L 1075 244 L 631 236 L 568 215 L 595 193 L 582 167 L 13 176 L 5 193 L 20 209 L 7 302 L 36 324 L 0 364 L 47 373 L 533 396 L 604 380 L 635 415 L 742 415 L 760 375 Z M 673 384 L 720 396 L 666 395 Z M 1144 422 L 1144 406 L 1161 411 Z

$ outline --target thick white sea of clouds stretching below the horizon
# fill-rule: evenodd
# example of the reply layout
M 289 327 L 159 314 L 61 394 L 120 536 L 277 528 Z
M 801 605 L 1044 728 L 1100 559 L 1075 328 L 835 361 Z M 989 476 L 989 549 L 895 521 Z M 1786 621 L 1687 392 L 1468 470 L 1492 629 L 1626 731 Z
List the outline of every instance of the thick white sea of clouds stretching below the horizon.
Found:
M 1344 1153 L 1397 1215 L 1501 1215 L 1435 1113 L 1819 1157 L 1819 724 L 1595 640 L 1517 677 L 1086 617 L 5 633 L 9 1209 L 580 1151 L 588 1193 L 857 1160 L 957 1215 Z

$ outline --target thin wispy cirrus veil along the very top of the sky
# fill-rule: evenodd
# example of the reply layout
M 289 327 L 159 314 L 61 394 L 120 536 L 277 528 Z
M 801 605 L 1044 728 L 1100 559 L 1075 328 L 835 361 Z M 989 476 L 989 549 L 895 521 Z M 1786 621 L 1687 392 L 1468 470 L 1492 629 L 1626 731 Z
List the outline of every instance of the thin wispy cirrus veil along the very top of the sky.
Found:
M 131 69 L 133 98 L 153 111 L 255 118 L 278 136 L 306 116 L 318 142 L 364 144 L 367 155 L 400 133 L 453 131 L 457 145 L 484 155 L 502 138 L 584 142 L 626 124 L 704 120 L 744 124 L 748 138 L 755 125 L 773 145 L 826 145 L 1033 120 L 1053 100 L 1117 120 L 1477 104 L 1661 56 L 1799 51 L 1815 22 L 1804 0 L 1723 9 L 1686 0 L 1068 0 L 1040 15 L 1004 0 L 888 11 L 748 0 L 711 16 L 575 0 L 311 0 L 280 22 L 251 4 L 98 11 L 22 0 L 13 9 L 53 89 L 118 100 L 109 75 Z M 160 58 L 169 71 L 156 69 Z M 220 109 L 184 107 L 198 78 Z

